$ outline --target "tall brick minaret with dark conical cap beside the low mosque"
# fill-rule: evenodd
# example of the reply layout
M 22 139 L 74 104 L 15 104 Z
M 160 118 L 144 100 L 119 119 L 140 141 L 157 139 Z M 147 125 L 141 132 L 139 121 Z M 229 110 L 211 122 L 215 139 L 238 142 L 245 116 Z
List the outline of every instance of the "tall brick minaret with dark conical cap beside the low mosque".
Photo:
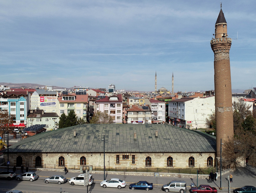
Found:
M 232 39 L 228 38 L 227 34 L 227 22 L 220 6 L 220 13 L 215 23 L 215 38 L 211 40 L 214 52 L 216 153 L 218 158 L 220 158 L 220 139 L 224 146 L 228 140 L 233 140 L 234 137 L 229 61 L 231 42 Z

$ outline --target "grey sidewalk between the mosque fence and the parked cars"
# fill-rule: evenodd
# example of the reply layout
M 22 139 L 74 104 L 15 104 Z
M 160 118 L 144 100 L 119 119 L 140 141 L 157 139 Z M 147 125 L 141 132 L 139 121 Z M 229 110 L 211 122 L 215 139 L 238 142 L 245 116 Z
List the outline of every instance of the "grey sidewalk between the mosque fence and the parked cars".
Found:
M 9 168 L 12 170 L 12 168 Z M 6 168 L 1 168 L 1 171 L 6 170 Z M 35 170 L 29 170 L 29 171 L 35 171 Z M 64 170 L 62 169 L 58 171 L 51 171 L 50 169 L 44 170 L 44 171 L 35 171 L 37 175 L 39 175 L 39 180 L 44 180 L 46 177 L 50 177 L 53 174 L 59 174 L 67 177 L 68 179 L 72 177 L 76 177 L 80 174 L 78 170 L 69 170 L 69 172 L 65 175 Z M 16 174 L 20 174 L 20 170 L 16 170 Z M 233 189 L 241 188 L 245 185 L 252 185 L 256 186 L 256 169 L 247 166 L 245 168 L 238 168 L 236 171 L 232 172 L 233 174 L 233 183 L 230 184 L 230 190 L 231 192 Z M 217 181 L 214 181 L 212 183 L 208 183 L 207 179 L 199 179 L 198 178 L 198 186 L 200 184 L 208 184 L 212 187 L 215 187 L 218 189 L 219 192 L 228 192 L 228 174 L 222 175 L 221 178 L 221 187 L 222 190 L 219 190 L 220 188 L 220 176 L 218 176 Z M 92 174 L 92 178 L 94 179 L 94 183 L 97 185 L 100 184 L 100 182 L 104 178 L 104 174 Z M 134 176 L 134 175 L 115 175 L 115 174 L 108 174 L 105 173 L 105 178 L 119 178 L 122 180 L 125 180 L 127 185 L 130 183 L 138 182 L 138 181 L 148 181 L 150 183 L 154 184 L 154 188 L 161 189 L 163 184 L 167 184 L 172 180 L 184 180 L 187 182 L 187 191 L 190 188 L 191 183 L 194 183 L 194 185 L 197 185 L 197 179 L 196 178 L 173 178 L 173 177 L 152 177 L 152 176 Z

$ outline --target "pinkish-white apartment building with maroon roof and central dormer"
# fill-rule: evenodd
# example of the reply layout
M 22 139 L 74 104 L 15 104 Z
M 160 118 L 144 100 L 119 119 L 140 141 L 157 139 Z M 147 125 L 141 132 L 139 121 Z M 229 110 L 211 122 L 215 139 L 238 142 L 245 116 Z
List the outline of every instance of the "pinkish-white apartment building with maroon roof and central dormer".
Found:
M 114 123 L 123 123 L 123 99 L 122 94 L 106 96 L 95 101 L 96 111 L 105 112 L 111 116 Z

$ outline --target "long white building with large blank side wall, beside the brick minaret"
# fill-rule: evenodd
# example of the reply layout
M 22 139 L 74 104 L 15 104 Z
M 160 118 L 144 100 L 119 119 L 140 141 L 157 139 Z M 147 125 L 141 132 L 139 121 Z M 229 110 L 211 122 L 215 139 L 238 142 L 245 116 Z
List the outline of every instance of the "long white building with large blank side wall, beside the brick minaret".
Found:
M 232 97 L 232 102 L 239 102 Z M 250 102 L 245 102 L 251 104 Z M 251 107 L 252 110 L 252 107 Z M 169 101 L 169 123 L 190 129 L 207 128 L 206 118 L 215 112 L 215 96 L 181 98 Z

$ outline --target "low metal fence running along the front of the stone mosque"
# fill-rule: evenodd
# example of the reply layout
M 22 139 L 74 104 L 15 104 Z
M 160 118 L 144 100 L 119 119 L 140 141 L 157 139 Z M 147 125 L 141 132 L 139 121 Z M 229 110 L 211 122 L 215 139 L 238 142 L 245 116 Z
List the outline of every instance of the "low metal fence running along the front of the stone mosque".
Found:
M 4 162 L 2 166 L 7 166 L 7 163 Z M 9 167 L 16 166 L 16 162 L 10 162 Z M 59 166 L 58 164 L 41 164 L 36 165 L 35 163 L 26 162 L 23 163 L 24 167 L 29 168 L 49 168 L 49 169 L 63 169 L 66 166 L 68 169 L 79 170 L 80 165 L 69 165 Z M 19 167 L 19 166 L 18 166 Z M 230 167 L 230 166 L 229 166 Z M 228 166 L 227 166 L 228 168 Z M 222 169 L 225 169 L 224 167 Z M 103 171 L 103 166 L 92 166 L 93 171 Z M 105 171 L 115 171 L 115 172 L 157 172 L 157 173 L 178 173 L 178 174 L 210 174 L 216 172 L 216 167 L 208 168 L 173 168 L 173 167 L 105 167 Z

